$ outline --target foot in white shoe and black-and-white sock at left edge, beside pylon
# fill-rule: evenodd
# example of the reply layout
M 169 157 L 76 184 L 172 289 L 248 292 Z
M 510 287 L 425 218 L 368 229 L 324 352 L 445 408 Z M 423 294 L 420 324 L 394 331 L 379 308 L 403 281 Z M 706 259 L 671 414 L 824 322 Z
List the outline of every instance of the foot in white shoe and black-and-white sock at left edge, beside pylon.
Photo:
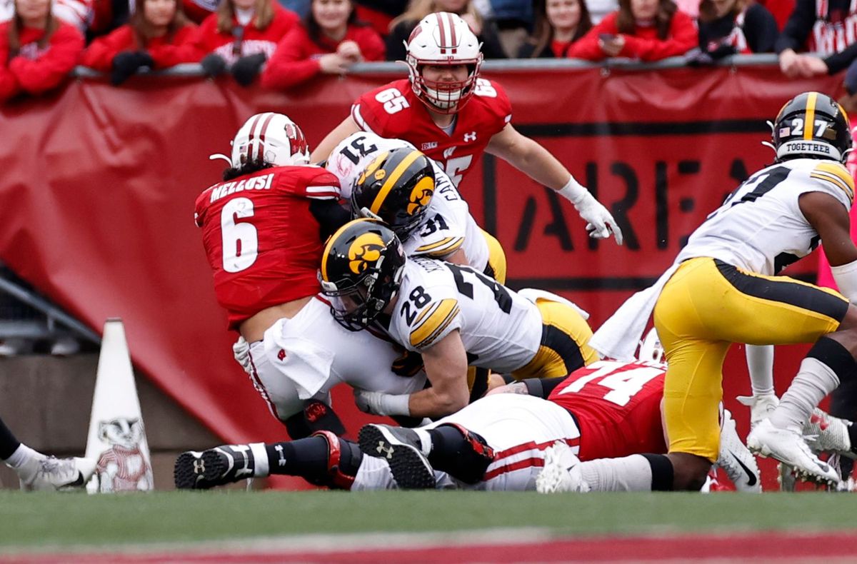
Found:
M 57 459 L 33 450 L 0 419 L 0 459 L 18 475 L 21 489 L 81 488 L 93 476 L 92 459 Z

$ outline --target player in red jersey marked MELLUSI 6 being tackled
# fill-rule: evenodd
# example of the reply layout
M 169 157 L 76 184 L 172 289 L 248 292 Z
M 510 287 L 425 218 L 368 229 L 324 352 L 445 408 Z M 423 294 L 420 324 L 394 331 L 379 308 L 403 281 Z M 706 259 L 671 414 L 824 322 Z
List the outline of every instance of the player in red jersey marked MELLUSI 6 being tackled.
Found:
M 316 296 L 323 242 L 349 217 L 339 179 L 309 165 L 297 124 L 282 114 L 250 117 L 232 141 L 224 182 L 196 200 L 195 221 L 229 328 L 241 334 L 239 363 L 292 438 L 345 429 L 330 388 L 411 393 L 424 377 L 393 373 L 396 351 L 369 332 L 333 321 Z M 249 343 L 249 345 L 248 345 Z

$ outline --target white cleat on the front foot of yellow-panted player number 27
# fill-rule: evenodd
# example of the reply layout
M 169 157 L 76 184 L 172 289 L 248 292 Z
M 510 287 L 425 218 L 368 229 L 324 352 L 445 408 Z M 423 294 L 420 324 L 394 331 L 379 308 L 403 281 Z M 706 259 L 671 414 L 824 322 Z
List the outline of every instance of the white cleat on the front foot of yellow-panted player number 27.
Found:
M 752 453 L 770 456 L 794 468 L 799 479 L 836 487 L 839 475 L 829 464 L 819 460 L 798 433 L 780 429 L 764 419 L 747 435 L 747 447 Z

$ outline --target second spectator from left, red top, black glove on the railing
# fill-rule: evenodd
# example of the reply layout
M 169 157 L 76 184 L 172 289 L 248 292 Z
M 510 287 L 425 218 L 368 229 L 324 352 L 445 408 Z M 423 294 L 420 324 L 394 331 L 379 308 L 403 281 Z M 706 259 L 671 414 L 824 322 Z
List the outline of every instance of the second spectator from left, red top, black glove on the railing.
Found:
M 95 39 L 83 52 L 81 64 L 111 71 L 111 82 L 121 84 L 143 67 L 195 63 L 201 58 L 194 45 L 195 29 L 177 0 L 136 0 L 131 21 Z

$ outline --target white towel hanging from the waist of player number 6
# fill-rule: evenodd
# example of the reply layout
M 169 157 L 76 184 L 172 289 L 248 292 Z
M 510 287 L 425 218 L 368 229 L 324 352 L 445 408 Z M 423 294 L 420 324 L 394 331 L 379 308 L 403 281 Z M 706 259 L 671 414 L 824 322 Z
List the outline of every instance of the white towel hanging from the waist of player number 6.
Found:
M 303 337 L 283 335 L 279 327 L 281 321 L 284 320 L 265 332 L 265 355 L 280 373 L 295 382 L 298 398 L 310 399 L 330 378 L 333 351 Z

